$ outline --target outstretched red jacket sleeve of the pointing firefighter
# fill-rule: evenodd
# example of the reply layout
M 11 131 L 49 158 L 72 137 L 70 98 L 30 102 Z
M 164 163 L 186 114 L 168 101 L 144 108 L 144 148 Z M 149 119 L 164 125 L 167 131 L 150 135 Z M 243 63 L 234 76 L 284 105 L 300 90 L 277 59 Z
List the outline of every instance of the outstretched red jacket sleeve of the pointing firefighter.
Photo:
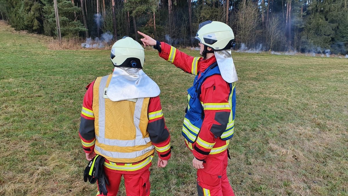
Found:
M 200 60 L 201 57 L 193 57 L 185 54 L 164 42 L 161 42 L 161 52 L 158 54 L 161 58 L 173 63 L 176 67 L 179 67 L 186 73 L 197 75 L 199 70 L 198 60 Z

